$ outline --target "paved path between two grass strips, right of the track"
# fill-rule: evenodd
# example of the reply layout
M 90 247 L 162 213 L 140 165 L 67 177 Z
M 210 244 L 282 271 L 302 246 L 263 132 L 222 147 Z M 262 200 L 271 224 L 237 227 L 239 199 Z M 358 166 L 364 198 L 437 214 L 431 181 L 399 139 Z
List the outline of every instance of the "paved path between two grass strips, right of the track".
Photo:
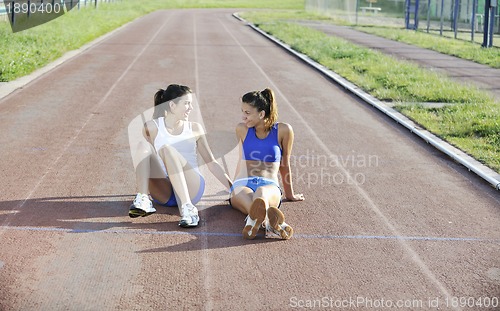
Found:
M 415 62 L 424 68 L 438 70 L 457 81 L 487 90 L 500 102 L 500 69 L 419 48 L 414 45 L 385 39 L 346 26 L 309 21 L 301 22 L 301 24 L 392 55 L 396 58 Z

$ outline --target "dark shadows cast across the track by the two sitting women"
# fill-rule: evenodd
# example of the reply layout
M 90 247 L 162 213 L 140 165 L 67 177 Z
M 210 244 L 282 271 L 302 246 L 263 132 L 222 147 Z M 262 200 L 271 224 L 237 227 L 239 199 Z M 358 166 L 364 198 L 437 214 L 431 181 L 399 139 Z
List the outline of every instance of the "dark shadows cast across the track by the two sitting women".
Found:
M 241 230 L 245 216 L 232 209 L 219 195 L 207 195 L 201 203 L 200 225 L 192 229 L 178 226 L 177 208 L 156 206 L 148 217 L 129 218 L 133 195 L 47 197 L 0 202 L 0 231 L 53 231 L 66 233 L 114 233 L 162 235 L 165 239 L 189 235 L 188 242 L 144 249 L 140 253 L 185 252 L 269 243 L 260 231 L 255 240 L 243 239 Z

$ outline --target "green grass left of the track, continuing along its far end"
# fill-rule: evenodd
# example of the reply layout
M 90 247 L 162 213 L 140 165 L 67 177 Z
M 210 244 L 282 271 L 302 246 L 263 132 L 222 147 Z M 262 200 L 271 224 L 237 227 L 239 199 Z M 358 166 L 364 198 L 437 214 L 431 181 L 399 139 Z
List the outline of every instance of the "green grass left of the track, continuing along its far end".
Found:
M 304 0 L 122 0 L 89 5 L 51 22 L 12 33 L 9 22 L 0 22 L 0 82 L 30 74 L 64 53 L 147 13 L 174 8 L 301 9 Z

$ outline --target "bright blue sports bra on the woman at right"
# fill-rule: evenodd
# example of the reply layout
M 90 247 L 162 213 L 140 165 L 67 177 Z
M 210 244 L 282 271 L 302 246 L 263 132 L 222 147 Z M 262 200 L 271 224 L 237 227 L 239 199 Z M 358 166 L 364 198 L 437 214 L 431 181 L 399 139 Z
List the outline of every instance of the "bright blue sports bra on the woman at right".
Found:
M 278 123 L 275 123 L 266 138 L 260 139 L 255 128 L 248 129 L 243 141 L 243 157 L 245 160 L 279 162 L 281 161 L 281 147 L 278 142 Z

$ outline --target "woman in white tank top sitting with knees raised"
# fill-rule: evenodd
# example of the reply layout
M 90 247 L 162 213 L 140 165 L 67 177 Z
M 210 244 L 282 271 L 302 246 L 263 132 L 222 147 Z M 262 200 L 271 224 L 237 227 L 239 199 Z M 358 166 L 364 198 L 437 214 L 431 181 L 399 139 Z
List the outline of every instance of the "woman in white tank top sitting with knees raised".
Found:
M 147 216 L 156 204 L 178 206 L 179 226 L 196 227 L 199 222 L 196 204 L 205 189 L 205 180 L 198 169 L 197 154 L 210 172 L 228 189 L 231 179 L 215 160 L 201 124 L 188 121 L 193 95 L 189 87 L 171 84 L 154 97 L 153 120 L 144 123 L 147 140 L 138 145 L 136 167 L 138 193 L 130 206 L 132 218 Z

